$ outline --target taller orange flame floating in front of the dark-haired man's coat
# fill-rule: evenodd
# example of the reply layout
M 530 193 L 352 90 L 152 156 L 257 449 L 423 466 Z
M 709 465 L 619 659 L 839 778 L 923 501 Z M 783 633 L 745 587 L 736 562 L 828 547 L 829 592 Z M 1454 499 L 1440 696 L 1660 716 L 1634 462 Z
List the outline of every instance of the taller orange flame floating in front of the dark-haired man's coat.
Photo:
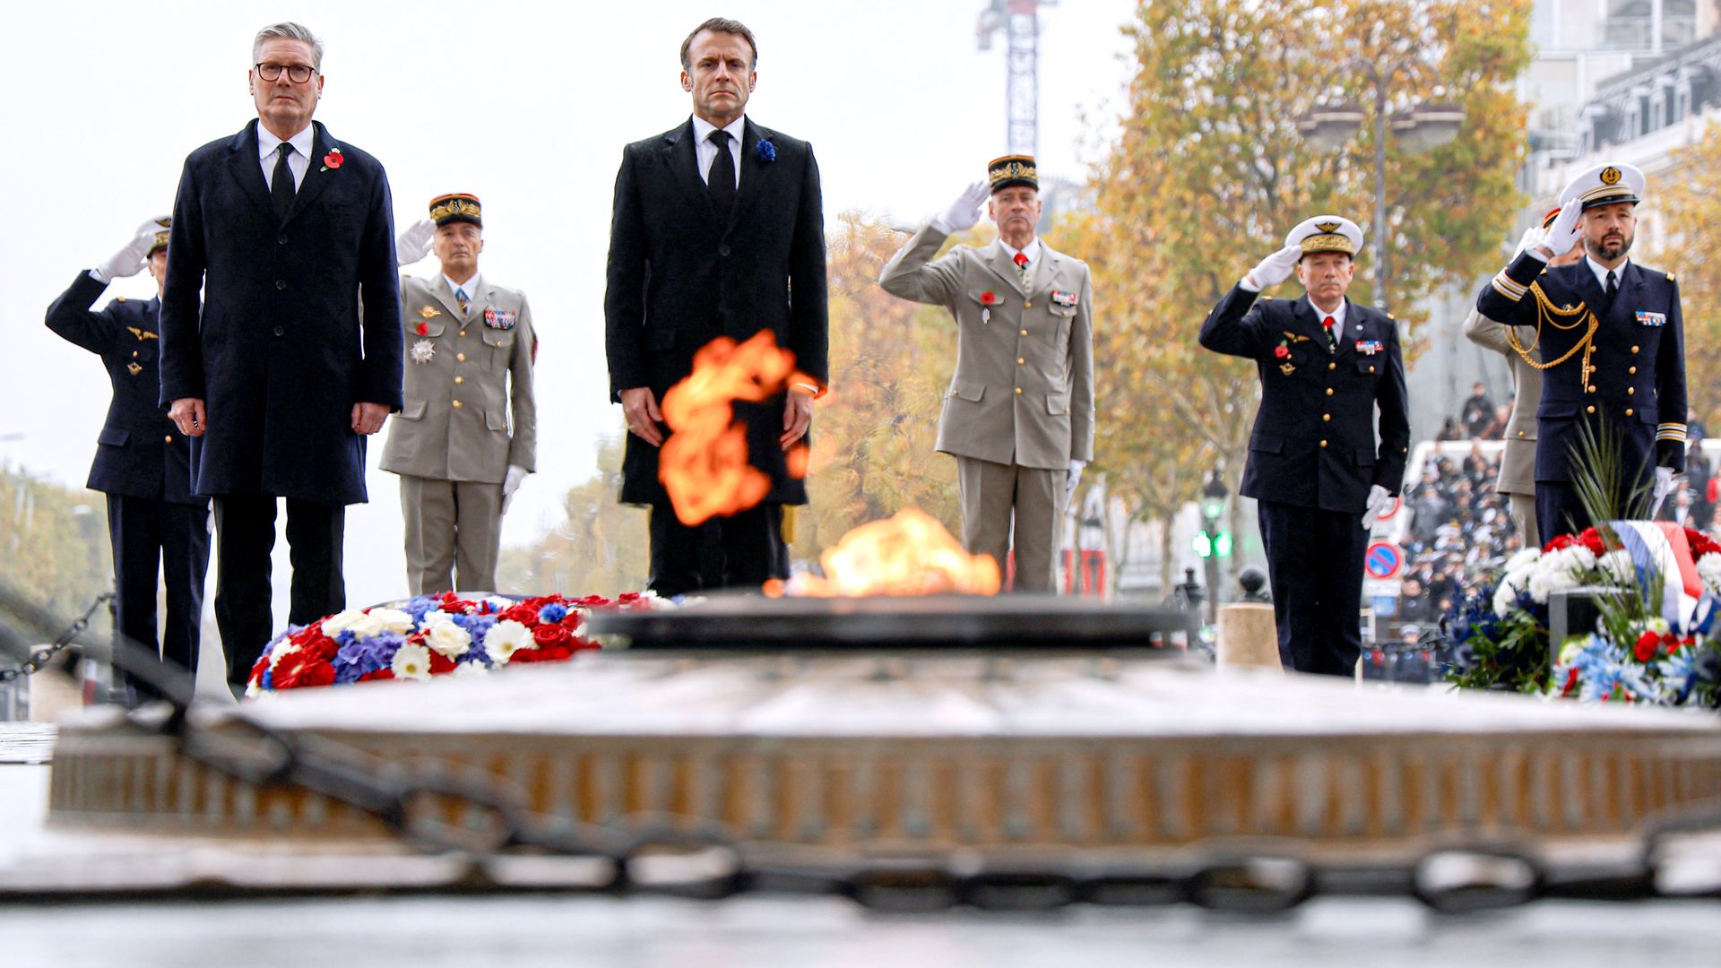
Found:
M 769 400 L 790 381 L 812 377 L 795 372 L 795 355 L 769 329 L 740 344 L 719 336 L 694 355 L 694 372 L 663 396 L 671 432 L 657 453 L 657 479 L 682 524 L 745 512 L 771 493 L 771 477 L 747 463 L 747 429 L 731 401 Z

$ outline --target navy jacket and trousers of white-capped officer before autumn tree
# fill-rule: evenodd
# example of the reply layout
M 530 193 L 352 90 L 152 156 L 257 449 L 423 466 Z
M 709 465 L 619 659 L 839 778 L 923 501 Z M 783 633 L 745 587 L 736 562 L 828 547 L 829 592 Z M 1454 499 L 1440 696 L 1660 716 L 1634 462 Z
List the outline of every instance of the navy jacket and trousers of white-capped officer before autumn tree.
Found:
M 1243 494 L 1258 501 L 1279 655 L 1298 672 L 1351 675 L 1361 655 L 1361 513 L 1372 486 L 1397 494 L 1409 455 L 1397 326 L 1346 300 L 1332 346 L 1306 296 L 1256 296 L 1234 286 L 1200 339 L 1260 370 Z

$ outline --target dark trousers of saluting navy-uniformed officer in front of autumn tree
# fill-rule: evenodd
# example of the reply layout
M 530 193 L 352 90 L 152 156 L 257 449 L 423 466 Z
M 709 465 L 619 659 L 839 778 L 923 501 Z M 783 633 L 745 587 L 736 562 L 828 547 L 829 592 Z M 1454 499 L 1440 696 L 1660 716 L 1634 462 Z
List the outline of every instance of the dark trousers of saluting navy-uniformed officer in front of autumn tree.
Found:
M 1260 501 L 1261 544 L 1274 587 L 1279 660 L 1286 668 L 1354 675 L 1363 653 L 1361 512 L 1323 512 Z

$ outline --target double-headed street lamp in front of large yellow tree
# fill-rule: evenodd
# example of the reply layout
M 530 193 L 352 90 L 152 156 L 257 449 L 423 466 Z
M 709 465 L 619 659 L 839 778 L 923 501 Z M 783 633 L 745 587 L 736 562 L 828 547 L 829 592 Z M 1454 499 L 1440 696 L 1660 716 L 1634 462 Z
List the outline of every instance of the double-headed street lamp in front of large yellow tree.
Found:
M 1387 310 L 1387 129 L 1413 153 L 1439 148 L 1453 138 L 1465 122 L 1465 109 L 1454 103 L 1425 103 L 1399 114 L 1387 114 L 1392 78 L 1399 71 L 1423 67 L 1415 57 L 1391 64 L 1377 64 L 1366 57 L 1353 57 L 1349 67 L 1360 67 L 1368 76 L 1375 95 L 1375 305 Z M 1317 107 L 1298 119 L 1296 129 L 1317 152 L 1334 152 L 1346 145 L 1363 126 L 1365 112 L 1358 105 Z

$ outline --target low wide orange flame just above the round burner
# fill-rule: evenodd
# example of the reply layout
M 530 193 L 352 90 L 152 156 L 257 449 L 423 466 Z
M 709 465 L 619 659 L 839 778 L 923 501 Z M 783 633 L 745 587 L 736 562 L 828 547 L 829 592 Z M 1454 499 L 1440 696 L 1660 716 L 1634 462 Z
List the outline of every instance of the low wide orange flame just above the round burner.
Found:
M 855 598 L 869 594 L 998 594 L 998 562 L 969 555 L 945 525 L 919 510 L 862 524 L 819 555 L 824 577 L 773 580 L 766 594 Z

